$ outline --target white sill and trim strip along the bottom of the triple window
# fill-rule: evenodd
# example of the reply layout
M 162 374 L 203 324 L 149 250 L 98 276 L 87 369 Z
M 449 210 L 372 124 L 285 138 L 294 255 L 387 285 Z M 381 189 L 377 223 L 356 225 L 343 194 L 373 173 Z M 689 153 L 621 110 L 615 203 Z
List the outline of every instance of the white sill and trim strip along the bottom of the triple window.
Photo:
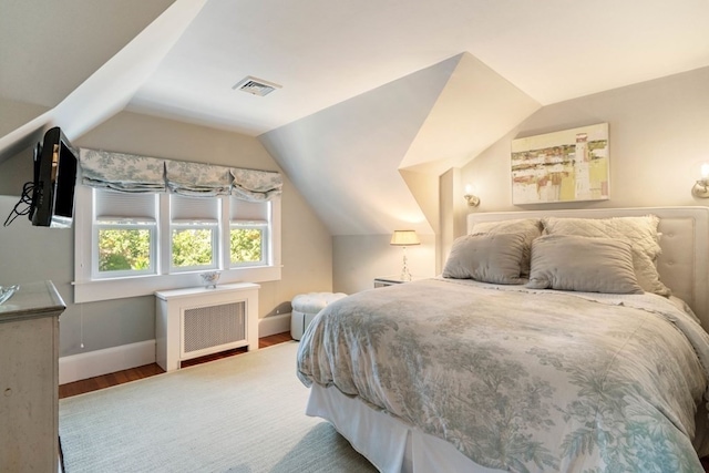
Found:
M 204 286 L 199 273 L 74 281 L 74 304 L 152 296 L 157 290 Z M 274 280 L 280 280 L 280 266 L 225 269 L 222 270 L 218 284 L 267 282 Z

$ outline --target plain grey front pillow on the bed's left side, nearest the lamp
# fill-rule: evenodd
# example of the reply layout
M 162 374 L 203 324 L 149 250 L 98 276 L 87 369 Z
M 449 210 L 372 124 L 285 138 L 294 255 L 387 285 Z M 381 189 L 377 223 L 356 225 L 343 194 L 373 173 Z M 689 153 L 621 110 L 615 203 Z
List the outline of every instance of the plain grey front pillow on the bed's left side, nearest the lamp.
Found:
M 443 277 L 494 284 L 523 284 L 524 235 L 466 235 L 453 241 Z

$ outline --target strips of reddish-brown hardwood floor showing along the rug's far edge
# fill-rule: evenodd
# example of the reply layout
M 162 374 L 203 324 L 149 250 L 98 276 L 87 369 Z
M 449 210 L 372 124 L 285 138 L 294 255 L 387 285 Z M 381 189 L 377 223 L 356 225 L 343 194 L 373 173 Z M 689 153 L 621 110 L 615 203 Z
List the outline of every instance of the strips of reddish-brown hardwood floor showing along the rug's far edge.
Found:
M 282 332 L 264 337 L 258 340 L 259 348 L 270 347 L 273 345 L 290 341 L 290 332 Z M 182 367 L 191 367 L 194 364 L 204 363 L 207 361 L 218 360 L 220 358 L 234 357 L 236 354 L 245 353 L 246 348 L 236 348 L 234 350 L 223 351 L 220 353 L 208 354 L 202 358 L 195 358 L 182 363 Z M 89 378 L 80 381 L 61 384 L 59 387 L 59 399 L 69 398 L 71 395 L 83 394 L 84 392 L 96 391 L 99 389 L 109 388 L 116 384 L 122 384 L 129 381 L 135 381 L 138 379 L 152 377 L 155 374 L 164 373 L 165 371 L 157 366 L 157 363 L 145 364 L 144 367 L 131 368 L 130 370 L 117 371 L 115 373 L 109 373 L 95 378 Z

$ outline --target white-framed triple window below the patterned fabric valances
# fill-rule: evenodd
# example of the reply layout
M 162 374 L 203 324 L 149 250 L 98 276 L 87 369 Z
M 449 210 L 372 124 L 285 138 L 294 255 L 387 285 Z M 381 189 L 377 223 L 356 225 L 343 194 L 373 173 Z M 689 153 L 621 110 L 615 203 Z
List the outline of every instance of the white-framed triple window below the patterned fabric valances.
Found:
M 74 302 L 280 279 L 280 197 L 126 194 L 76 186 Z

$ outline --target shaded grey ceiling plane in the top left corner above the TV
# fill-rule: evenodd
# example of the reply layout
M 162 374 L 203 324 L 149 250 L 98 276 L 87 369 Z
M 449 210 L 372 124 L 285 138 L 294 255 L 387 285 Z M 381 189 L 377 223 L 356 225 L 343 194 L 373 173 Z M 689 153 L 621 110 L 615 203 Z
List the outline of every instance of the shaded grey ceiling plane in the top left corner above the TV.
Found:
M 0 94 L 56 106 L 173 2 L 2 0 Z

